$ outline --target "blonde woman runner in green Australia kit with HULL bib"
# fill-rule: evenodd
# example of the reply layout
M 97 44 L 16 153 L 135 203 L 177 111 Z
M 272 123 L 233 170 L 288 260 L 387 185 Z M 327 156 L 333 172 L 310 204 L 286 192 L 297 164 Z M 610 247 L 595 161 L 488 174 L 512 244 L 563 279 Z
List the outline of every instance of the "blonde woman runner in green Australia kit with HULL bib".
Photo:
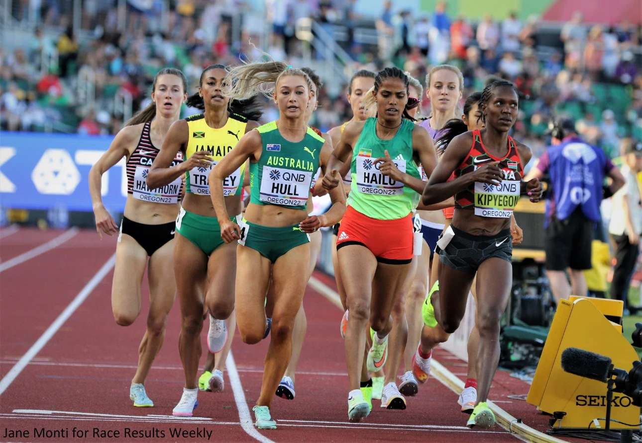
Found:
M 345 212 L 341 187 L 330 192 L 333 206 L 324 215 L 309 216 L 306 203 L 318 167 L 326 171 L 331 146 L 306 126 L 312 82 L 305 72 L 282 62 L 248 63 L 230 70 L 230 97 L 245 99 L 270 94 L 279 106 L 279 119 L 241 139 L 236 149 L 213 169 L 210 187 L 221 238 L 238 244 L 236 321 L 243 342 L 259 342 L 266 330 L 265 294 L 274 285 L 272 339 L 265 356 L 261 396 L 254 406 L 256 426 L 275 429 L 270 405 L 292 352 L 295 317 L 308 283 L 309 235 L 332 226 Z M 238 224 L 229 218 L 223 201 L 223 178 L 250 160 L 250 204 Z M 234 243 L 232 243 L 234 242 Z

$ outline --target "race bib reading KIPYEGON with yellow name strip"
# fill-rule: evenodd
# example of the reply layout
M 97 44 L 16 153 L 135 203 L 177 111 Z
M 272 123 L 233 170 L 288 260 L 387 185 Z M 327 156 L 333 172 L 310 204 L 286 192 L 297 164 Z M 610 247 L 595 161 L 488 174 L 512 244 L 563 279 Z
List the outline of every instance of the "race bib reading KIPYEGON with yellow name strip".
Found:
M 519 180 L 502 180 L 499 185 L 475 182 L 475 215 L 507 219 L 519 201 Z

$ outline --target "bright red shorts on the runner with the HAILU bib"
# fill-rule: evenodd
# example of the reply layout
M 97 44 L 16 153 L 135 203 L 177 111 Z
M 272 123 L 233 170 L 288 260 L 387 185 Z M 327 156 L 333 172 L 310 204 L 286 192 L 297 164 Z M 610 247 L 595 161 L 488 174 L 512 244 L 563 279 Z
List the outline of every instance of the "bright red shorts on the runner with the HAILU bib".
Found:
M 377 262 L 403 265 L 412 262 L 412 214 L 403 219 L 377 220 L 348 206 L 339 226 L 336 249 L 361 245 L 370 249 Z

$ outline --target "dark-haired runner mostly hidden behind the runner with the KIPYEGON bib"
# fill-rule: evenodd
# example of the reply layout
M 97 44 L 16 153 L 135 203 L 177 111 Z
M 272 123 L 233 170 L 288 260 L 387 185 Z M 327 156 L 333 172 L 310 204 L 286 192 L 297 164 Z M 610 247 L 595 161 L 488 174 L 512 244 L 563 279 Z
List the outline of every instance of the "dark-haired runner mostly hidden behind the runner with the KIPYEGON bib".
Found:
M 453 119 L 446 123 L 444 126 L 444 133 L 437 140 L 437 155 L 442 155 L 448 144 L 455 138 L 457 135 L 463 134 L 466 131 L 481 130 L 484 125 L 482 122 L 482 112 L 479 109 L 479 102 L 482 99 L 482 92 L 473 92 L 467 99 L 464 104 L 464 113 L 462 114 L 462 120 Z M 452 176 L 451 176 L 452 180 Z M 455 212 L 455 207 L 444 209 L 444 215 L 446 216 L 446 228 L 450 226 L 453 219 L 453 213 Z M 512 244 L 518 245 L 523 240 L 523 232 L 517 222 L 515 221 L 514 215 L 510 216 L 510 235 L 512 237 Z M 440 266 L 437 263 L 437 266 L 433 266 L 432 274 L 433 281 L 435 284 L 430 290 L 428 295 L 428 301 L 424 301 L 422 305 L 422 317 L 429 319 L 429 324 L 424 323 L 424 327 L 421 331 L 421 342 L 419 347 L 415 352 L 412 360 L 412 371 L 415 376 L 415 379 L 419 383 L 426 383 L 428 380 L 428 375 L 430 374 L 430 362 L 432 356 L 432 349 L 440 343 L 446 342 L 450 334 L 444 332 L 442 328 L 434 321 L 434 315 L 432 313 L 433 306 L 429 302 L 430 297 L 435 291 L 439 290 L 439 283 L 437 281 L 437 269 Z M 477 299 L 477 291 L 475 288 L 475 281 L 471 286 L 471 293 L 473 294 L 474 299 Z M 473 412 L 475 401 L 477 399 L 477 350 L 479 347 L 479 330 L 475 324 L 471 335 L 468 339 L 467 350 L 468 350 L 468 373 L 466 383 L 464 385 L 464 390 L 460 394 L 457 403 L 462 406 L 462 412 L 470 414 Z

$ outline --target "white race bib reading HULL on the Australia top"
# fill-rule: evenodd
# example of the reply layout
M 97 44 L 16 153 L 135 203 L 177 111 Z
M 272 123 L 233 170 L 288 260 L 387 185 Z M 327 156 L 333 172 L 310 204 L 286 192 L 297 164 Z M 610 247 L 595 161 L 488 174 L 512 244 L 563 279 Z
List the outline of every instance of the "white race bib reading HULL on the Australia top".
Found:
M 263 166 L 260 201 L 271 205 L 305 206 L 312 172 Z

